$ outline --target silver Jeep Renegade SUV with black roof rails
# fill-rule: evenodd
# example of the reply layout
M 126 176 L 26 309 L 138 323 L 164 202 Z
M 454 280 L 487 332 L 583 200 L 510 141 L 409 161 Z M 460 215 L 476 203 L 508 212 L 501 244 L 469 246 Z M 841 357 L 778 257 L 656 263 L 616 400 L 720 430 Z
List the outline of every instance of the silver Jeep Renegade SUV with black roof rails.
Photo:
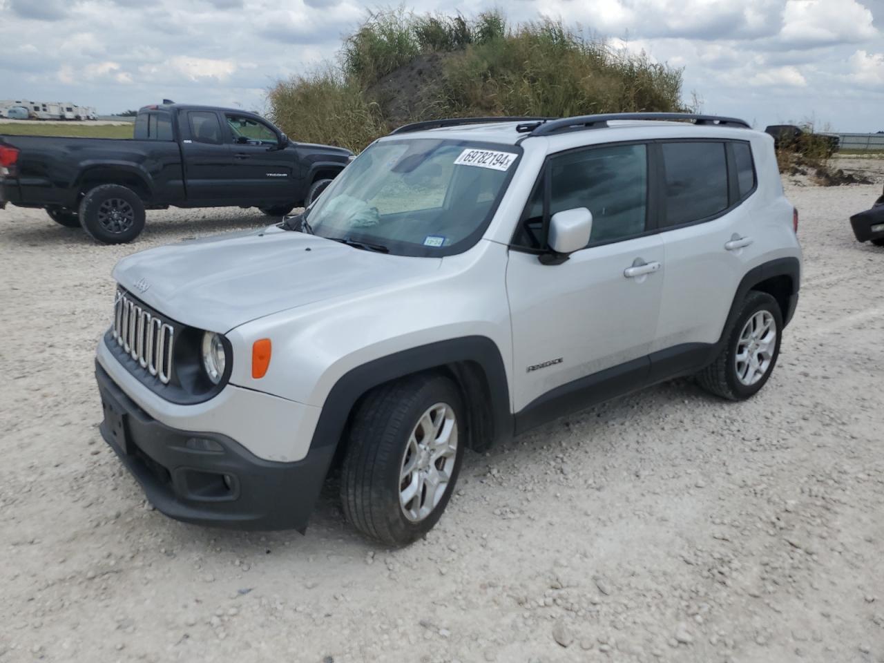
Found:
M 422 536 L 466 449 L 646 385 L 751 397 L 796 308 L 773 139 L 697 115 L 375 141 L 299 217 L 118 263 L 102 433 L 165 514 Z

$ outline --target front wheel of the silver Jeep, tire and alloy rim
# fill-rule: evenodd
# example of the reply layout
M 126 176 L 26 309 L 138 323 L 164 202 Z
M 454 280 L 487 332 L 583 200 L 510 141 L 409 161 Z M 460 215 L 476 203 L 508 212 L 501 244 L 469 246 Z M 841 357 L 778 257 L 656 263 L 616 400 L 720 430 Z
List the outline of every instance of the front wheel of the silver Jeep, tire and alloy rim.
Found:
M 354 413 L 341 471 L 347 521 L 366 537 L 393 546 L 430 531 L 461 470 L 465 416 L 461 394 L 447 377 L 408 377 L 369 392 Z M 427 439 L 423 431 L 434 434 L 436 453 L 444 455 L 434 460 L 418 442 Z M 406 475 L 407 463 L 412 469 Z M 447 482 L 438 482 L 440 470 Z M 437 477 L 435 494 L 428 476 Z

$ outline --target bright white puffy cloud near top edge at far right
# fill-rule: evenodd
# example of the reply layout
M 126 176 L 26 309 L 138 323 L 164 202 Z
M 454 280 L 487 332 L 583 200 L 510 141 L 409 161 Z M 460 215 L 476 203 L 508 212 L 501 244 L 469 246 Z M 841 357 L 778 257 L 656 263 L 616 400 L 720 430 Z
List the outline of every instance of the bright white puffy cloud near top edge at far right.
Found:
M 788 0 L 783 19 L 785 44 L 855 43 L 878 36 L 872 11 L 857 0 Z

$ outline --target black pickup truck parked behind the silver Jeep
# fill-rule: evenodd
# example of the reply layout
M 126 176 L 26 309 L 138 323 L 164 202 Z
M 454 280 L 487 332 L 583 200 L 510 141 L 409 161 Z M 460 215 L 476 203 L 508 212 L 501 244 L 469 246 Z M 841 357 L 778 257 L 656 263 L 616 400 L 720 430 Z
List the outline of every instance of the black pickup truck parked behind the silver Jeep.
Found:
M 352 159 L 290 141 L 254 113 L 164 102 L 138 111 L 131 140 L 0 135 L 0 208 L 45 208 L 116 244 L 138 236 L 144 210 L 257 207 L 281 217 Z

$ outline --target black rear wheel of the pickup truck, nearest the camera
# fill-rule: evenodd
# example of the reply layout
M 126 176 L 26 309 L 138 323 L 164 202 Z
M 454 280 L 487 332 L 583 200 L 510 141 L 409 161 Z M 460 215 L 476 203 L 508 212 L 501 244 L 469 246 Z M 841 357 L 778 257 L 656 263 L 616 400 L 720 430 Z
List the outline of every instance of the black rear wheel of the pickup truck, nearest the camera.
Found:
M 144 229 L 144 203 L 130 188 L 103 184 L 80 202 L 80 225 L 103 244 L 132 241 Z

